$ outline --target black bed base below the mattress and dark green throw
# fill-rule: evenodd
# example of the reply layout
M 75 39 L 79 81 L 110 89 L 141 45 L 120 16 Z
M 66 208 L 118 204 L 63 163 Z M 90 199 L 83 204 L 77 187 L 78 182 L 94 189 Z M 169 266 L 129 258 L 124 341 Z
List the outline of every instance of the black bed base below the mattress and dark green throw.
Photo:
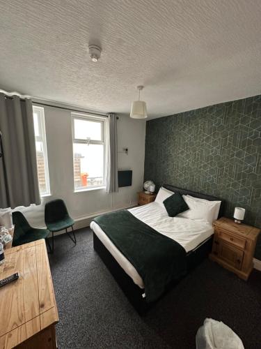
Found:
M 134 306 L 134 309 L 136 309 L 140 315 L 144 315 L 163 296 L 162 295 L 156 302 L 147 303 L 145 297 L 143 297 L 145 290 L 139 288 L 139 286 L 133 282 L 132 278 L 125 273 L 122 267 L 120 267 L 118 262 L 113 258 L 113 255 L 111 255 L 104 244 L 102 244 L 100 239 L 95 235 L 95 232 L 93 232 L 93 248 L 98 255 L 100 255 L 100 258 L 109 269 L 122 291 L 125 293 L 127 299 L 129 299 L 129 302 L 132 304 L 132 306 Z M 207 242 L 199 246 L 195 251 L 191 251 L 187 254 L 188 272 L 199 265 L 200 262 L 207 257 L 211 251 L 211 248 L 212 238 L 208 239 Z M 181 279 L 182 278 L 173 281 L 173 283 L 171 283 L 166 289 L 166 292 L 171 290 L 171 288 L 173 288 L 173 286 L 176 285 Z M 166 292 L 164 292 L 164 294 Z

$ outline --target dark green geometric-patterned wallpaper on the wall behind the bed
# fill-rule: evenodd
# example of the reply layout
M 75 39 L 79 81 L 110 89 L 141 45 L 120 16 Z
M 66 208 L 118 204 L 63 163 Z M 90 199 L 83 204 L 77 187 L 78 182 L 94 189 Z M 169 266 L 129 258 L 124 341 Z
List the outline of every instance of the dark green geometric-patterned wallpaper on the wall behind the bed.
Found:
M 144 179 L 223 198 L 261 228 L 261 96 L 148 121 Z

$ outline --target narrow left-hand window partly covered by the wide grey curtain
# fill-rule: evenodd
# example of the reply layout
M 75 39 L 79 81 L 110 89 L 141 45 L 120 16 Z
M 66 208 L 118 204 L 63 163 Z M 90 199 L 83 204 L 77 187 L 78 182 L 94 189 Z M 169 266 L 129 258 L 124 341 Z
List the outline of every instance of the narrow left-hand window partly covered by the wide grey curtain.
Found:
M 50 186 L 45 138 L 45 111 L 43 107 L 36 107 L 33 105 L 33 125 L 40 195 L 49 195 Z

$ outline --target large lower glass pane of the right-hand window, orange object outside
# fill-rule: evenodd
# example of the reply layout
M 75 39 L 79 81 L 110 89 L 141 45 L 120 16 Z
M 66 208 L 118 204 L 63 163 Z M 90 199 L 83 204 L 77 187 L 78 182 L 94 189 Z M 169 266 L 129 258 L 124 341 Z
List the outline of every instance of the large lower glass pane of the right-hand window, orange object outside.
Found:
M 74 188 L 81 189 L 104 185 L 103 144 L 73 144 Z

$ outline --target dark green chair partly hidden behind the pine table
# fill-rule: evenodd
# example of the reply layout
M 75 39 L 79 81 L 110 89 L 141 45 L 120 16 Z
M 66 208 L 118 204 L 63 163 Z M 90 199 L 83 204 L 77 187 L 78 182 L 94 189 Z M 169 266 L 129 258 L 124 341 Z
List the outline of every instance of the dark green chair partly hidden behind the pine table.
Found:
M 13 224 L 15 225 L 15 232 L 13 235 L 13 246 L 19 246 L 33 242 L 35 240 L 46 239 L 49 235 L 47 229 L 32 228 L 26 221 L 22 212 L 15 211 L 12 214 Z

